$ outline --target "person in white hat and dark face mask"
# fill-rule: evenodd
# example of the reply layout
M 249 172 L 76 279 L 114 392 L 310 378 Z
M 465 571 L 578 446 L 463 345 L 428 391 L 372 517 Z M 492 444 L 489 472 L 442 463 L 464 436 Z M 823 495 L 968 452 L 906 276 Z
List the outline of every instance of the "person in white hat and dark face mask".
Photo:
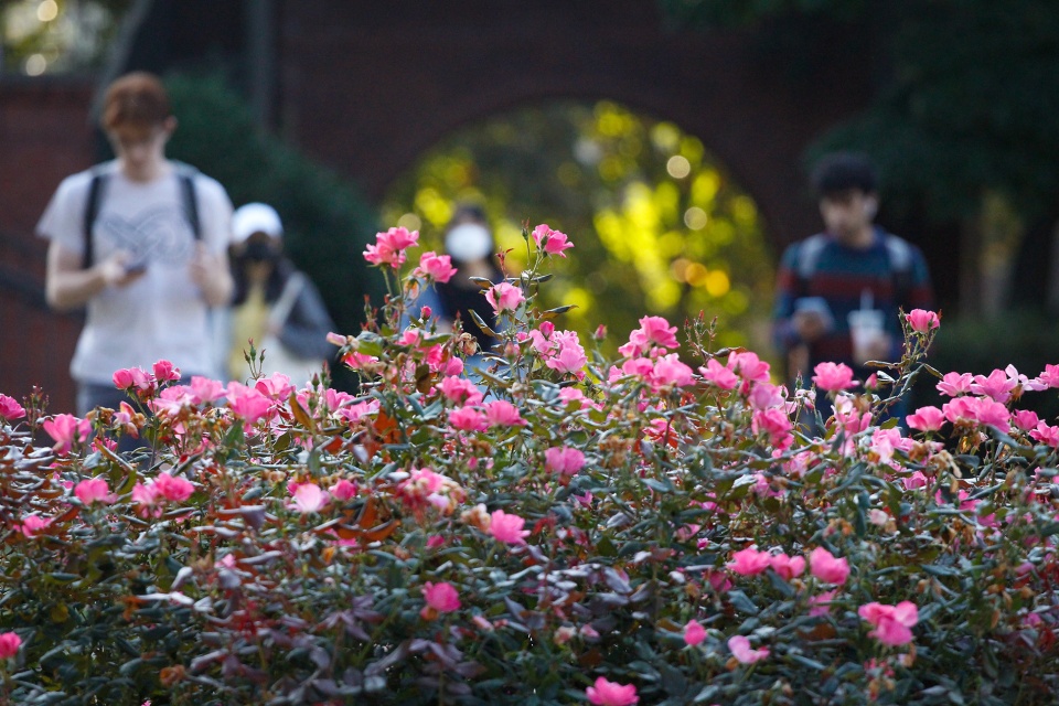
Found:
M 303 385 L 334 352 L 334 328 L 320 292 L 284 256 L 284 225 L 268 204 L 248 203 L 232 214 L 231 260 L 235 280 L 228 374 L 250 376 L 250 342 L 265 352 L 261 373 L 282 373 Z

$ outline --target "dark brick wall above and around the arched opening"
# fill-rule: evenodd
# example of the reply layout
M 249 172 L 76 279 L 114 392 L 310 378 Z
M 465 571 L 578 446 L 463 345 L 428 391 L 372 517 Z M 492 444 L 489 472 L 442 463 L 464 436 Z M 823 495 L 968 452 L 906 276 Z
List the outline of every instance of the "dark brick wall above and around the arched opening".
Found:
M 802 151 L 870 89 L 864 61 L 817 56 L 824 73 L 791 82 L 780 60 L 761 58 L 760 35 L 671 30 L 643 0 L 288 0 L 280 17 L 279 125 L 376 199 L 462 126 L 608 98 L 699 137 L 780 246 L 817 227 Z

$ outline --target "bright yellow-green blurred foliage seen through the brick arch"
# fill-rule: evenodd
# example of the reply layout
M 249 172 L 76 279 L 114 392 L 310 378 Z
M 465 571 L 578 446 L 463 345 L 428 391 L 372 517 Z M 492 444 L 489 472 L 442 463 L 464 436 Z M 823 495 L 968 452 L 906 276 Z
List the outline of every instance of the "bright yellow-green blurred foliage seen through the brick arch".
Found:
M 757 207 L 697 138 L 607 101 L 556 103 L 451 136 L 391 189 L 387 224 L 441 247 L 454 204 L 485 207 L 509 269 L 526 264 L 522 226 L 567 233 L 544 304 L 576 304 L 565 325 L 637 328 L 719 315 L 723 345 L 766 345 L 772 255 Z

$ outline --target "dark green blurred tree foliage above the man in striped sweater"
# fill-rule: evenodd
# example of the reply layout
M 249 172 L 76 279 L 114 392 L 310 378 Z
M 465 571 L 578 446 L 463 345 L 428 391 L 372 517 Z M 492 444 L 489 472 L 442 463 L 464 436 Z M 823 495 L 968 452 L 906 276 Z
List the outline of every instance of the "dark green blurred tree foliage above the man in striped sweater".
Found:
M 1053 0 L 660 0 L 699 26 L 851 23 L 879 68 L 871 107 L 811 147 L 880 163 L 896 211 L 976 217 L 990 191 L 1027 218 L 1059 216 L 1059 12 Z M 806 45 L 806 52 L 812 46 Z

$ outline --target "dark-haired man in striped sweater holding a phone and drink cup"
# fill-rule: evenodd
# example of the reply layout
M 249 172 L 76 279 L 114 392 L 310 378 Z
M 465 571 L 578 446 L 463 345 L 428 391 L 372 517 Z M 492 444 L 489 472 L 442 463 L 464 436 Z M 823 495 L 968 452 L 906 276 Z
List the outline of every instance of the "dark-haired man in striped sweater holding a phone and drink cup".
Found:
M 930 276 L 919 248 L 875 225 L 878 186 L 868 158 L 830 154 L 812 176 L 825 229 L 783 253 L 775 341 L 792 379 L 799 373 L 807 379 L 830 361 L 849 365 L 863 383 L 871 374 L 865 363 L 900 357 L 898 310 L 932 308 Z M 855 323 L 880 320 L 880 329 L 858 335 L 855 346 L 851 313 Z

